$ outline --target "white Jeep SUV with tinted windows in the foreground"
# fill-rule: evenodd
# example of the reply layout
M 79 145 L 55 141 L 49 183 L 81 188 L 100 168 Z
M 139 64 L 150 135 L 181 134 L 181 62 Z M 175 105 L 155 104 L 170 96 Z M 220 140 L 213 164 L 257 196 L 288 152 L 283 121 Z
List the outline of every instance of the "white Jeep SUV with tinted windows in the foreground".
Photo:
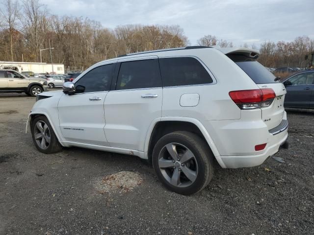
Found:
M 206 187 L 223 168 L 262 164 L 288 137 L 286 89 L 247 48 L 184 47 L 99 62 L 37 95 L 37 149 L 78 146 L 139 156 L 169 189 Z

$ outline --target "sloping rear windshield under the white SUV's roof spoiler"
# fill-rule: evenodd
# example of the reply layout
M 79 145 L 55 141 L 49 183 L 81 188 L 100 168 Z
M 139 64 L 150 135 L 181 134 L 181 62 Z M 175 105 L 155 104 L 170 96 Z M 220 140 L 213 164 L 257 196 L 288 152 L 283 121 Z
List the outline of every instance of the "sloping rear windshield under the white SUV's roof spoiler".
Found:
M 241 54 L 227 55 L 237 64 L 256 84 L 278 83 L 275 75 L 268 71 L 255 59 Z

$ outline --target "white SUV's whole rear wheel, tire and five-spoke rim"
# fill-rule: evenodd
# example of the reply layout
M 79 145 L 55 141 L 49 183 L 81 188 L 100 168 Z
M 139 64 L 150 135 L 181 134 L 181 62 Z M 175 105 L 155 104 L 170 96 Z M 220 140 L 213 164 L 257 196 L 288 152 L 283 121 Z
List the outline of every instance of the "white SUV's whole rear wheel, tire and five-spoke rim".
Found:
M 177 131 L 157 141 L 153 166 L 166 188 L 188 195 L 208 185 L 213 176 L 213 154 L 196 134 Z

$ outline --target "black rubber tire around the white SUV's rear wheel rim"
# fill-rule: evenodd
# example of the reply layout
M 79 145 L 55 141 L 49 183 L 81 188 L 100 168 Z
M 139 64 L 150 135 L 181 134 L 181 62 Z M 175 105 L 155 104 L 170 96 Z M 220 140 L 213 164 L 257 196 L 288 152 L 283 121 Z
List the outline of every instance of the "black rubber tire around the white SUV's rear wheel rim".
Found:
M 169 179 L 167 180 L 163 174 L 165 174 L 165 171 L 162 173 L 162 169 L 159 168 L 159 159 L 160 156 L 162 155 L 162 151 L 165 151 L 165 146 L 167 144 L 179 144 L 178 146 L 180 147 L 181 145 L 184 147 L 187 147 L 188 150 L 192 152 L 194 155 L 194 162 L 196 162 L 197 165 L 197 170 L 196 173 L 196 178 L 195 181 L 191 181 L 190 185 L 187 185 L 186 187 L 176 187 L 173 184 L 169 182 Z M 175 147 L 177 148 L 177 147 Z M 176 150 L 178 152 L 178 150 Z M 177 156 L 180 154 L 178 153 Z M 170 155 L 169 155 L 170 156 Z M 181 156 L 183 158 L 183 156 Z M 169 133 L 165 136 L 163 136 L 159 141 L 157 141 L 154 150 L 153 150 L 153 155 L 152 155 L 152 160 L 153 160 L 153 167 L 155 169 L 155 172 L 157 174 L 158 179 L 163 183 L 163 185 L 170 189 L 171 191 L 174 191 L 176 193 L 180 193 L 183 195 L 189 195 L 193 193 L 197 193 L 203 188 L 205 188 L 208 184 L 209 181 L 212 179 L 214 168 L 213 168 L 213 154 L 208 146 L 208 144 L 201 139 L 199 136 L 196 134 L 193 134 L 191 132 L 187 131 L 176 131 Z M 168 159 L 171 159 L 170 157 Z M 180 158 L 178 158 L 180 160 Z M 162 159 L 165 160 L 165 159 Z M 169 160 L 166 160 L 169 161 Z M 175 162 L 175 161 L 173 161 Z M 176 162 L 175 164 L 177 164 Z M 180 165 L 180 164 L 179 164 Z M 182 164 L 181 164 L 182 165 Z M 181 167 L 183 166 L 173 166 L 173 169 L 171 167 L 169 168 L 163 168 L 163 169 L 169 169 L 171 172 L 175 167 L 179 168 L 179 181 L 180 184 L 181 180 L 184 178 L 187 179 L 185 174 L 183 173 L 183 169 L 180 170 Z M 183 173 L 183 175 L 182 175 Z M 170 173 L 171 174 L 171 173 Z M 173 173 L 174 175 L 174 173 Z M 167 176 L 166 176 L 167 177 Z M 169 175 L 170 177 L 170 175 Z M 183 178 L 182 178 L 183 177 Z M 171 177 L 170 177 L 171 178 Z M 188 180 L 188 179 L 187 179 Z

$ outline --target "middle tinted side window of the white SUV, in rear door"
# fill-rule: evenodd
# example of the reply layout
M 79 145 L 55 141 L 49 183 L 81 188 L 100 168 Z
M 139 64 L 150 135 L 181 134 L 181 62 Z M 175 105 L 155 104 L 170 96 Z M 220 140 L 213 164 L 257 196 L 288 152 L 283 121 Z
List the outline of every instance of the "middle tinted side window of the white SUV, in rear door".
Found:
M 122 62 L 116 90 L 162 87 L 157 59 Z

